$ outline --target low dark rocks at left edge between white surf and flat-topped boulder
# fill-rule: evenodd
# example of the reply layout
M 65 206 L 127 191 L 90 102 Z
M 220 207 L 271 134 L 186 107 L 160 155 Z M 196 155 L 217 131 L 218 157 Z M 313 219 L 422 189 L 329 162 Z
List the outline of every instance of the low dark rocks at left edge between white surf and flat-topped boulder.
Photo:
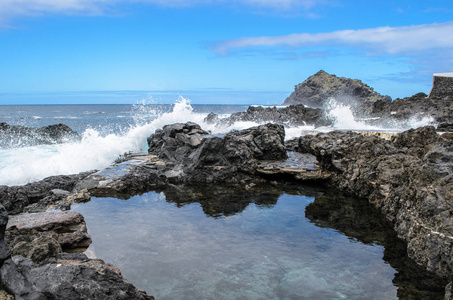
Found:
M 9 214 L 18 214 L 27 210 L 43 211 L 57 201 L 65 201 L 75 184 L 92 172 L 76 175 L 51 176 L 38 182 L 23 186 L 0 186 L 0 203 Z

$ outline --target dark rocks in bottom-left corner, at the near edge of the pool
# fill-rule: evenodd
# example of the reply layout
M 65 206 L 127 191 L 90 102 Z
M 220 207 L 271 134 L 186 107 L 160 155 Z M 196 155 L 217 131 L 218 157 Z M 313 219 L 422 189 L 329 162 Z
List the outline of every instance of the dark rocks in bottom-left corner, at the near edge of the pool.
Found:
M 59 213 L 57 217 L 54 215 L 55 218 L 50 218 L 49 214 L 41 214 L 40 217 L 33 215 L 33 225 L 28 222 L 30 219 L 27 221 L 26 216 L 18 216 L 13 219 L 9 229 L 28 233 L 55 230 L 58 235 L 57 245 L 74 246 L 71 242 L 76 240 L 74 234 L 64 231 L 71 231 L 71 228 L 80 227 L 80 224 L 83 227 L 84 222 L 73 224 L 74 220 L 80 221 L 80 218 L 83 221 L 83 217 L 77 213 L 63 214 L 64 216 Z M 0 286 L 14 295 L 15 299 L 154 299 L 124 280 L 114 266 L 99 259 L 88 259 L 81 253 L 39 253 L 40 249 L 35 249 L 35 254 L 41 257 L 58 255 L 54 262 L 41 266 L 22 256 L 11 257 L 4 240 L 7 222 L 8 214 L 0 205 Z M 36 246 L 42 249 L 47 244 L 41 241 Z

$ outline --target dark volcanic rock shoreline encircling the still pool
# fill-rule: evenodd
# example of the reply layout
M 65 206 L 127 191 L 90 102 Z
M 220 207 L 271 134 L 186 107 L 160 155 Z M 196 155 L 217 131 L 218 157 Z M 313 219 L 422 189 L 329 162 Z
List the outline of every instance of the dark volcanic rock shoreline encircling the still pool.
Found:
M 421 103 L 417 109 L 429 113 L 432 103 L 443 105 L 450 97 L 417 94 L 413 99 Z M 363 105 L 371 115 L 379 108 L 383 118 L 407 116 L 391 112 L 405 111 L 410 100 L 386 99 Z M 448 125 L 450 106 L 438 107 L 436 120 Z M 326 124 L 320 111 L 296 105 L 208 118 Z M 176 186 L 235 184 L 248 190 L 293 181 L 322 183 L 374 205 L 407 243 L 408 255 L 450 282 L 445 299 L 452 299 L 453 134 L 440 133 L 448 128 L 411 129 L 391 139 L 332 131 L 285 142 L 284 126 L 271 123 L 222 136 L 191 122 L 164 126 L 148 138 L 148 153 L 129 155 L 110 168 L 0 186 L 1 286 L 21 299 L 153 299 L 114 266 L 72 253 L 91 242 L 83 216 L 67 211 L 72 203 Z

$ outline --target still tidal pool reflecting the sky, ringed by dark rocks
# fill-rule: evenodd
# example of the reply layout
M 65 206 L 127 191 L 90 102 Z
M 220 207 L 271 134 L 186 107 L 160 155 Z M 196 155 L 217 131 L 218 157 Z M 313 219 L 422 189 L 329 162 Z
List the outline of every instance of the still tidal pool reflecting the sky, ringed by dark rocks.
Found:
M 73 205 L 87 253 L 156 299 L 442 299 L 366 201 L 301 186 L 186 187 Z

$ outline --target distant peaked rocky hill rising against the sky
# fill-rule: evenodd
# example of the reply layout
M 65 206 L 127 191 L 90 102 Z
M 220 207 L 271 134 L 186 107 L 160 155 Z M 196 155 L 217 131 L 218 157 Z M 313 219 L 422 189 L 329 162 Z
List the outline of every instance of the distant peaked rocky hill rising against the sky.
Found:
M 303 104 L 312 108 L 325 108 L 331 98 L 352 106 L 391 101 L 389 96 L 380 95 L 360 80 L 337 77 L 321 70 L 296 85 L 283 105 Z

